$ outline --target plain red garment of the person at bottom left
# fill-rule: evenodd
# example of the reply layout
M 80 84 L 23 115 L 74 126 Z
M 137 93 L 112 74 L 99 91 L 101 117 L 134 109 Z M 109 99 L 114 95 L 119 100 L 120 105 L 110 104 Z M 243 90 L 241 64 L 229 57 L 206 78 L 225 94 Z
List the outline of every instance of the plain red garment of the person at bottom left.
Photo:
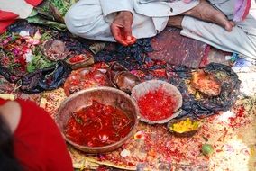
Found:
M 5 102 L 0 99 L 0 105 Z M 31 101 L 16 102 L 22 115 L 14 132 L 14 152 L 24 170 L 73 170 L 65 140 L 50 115 Z

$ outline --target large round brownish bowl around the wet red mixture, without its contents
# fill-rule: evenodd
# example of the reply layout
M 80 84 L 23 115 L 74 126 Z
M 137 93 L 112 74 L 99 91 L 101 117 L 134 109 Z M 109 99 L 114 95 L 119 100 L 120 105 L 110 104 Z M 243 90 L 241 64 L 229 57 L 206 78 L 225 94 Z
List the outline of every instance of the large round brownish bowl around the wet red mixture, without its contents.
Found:
M 82 107 L 91 105 L 93 100 L 96 100 L 99 103 L 118 107 L 119 109 L 123 110 L 123 112 L 125 112 L 133 121 L 133 128 L 123 139 L 103 147 L 87 147 L 78 145 L 66 137 L 64 130 L 67 126 L 69 118 L 72 117 L 71 113 Z M 138 124 L 138 114 L 139 108 L 133 101 L 133 98 L 131 98 L 128 94 L 125 94 L 123 91 L 112 87 L 101 86 L 88 88 L 75 94 L 71 94 L 63 103 L 60 104 L 57 122 L 64 139 L 66 139 L 66 141 L 69 142 L 69 144 L 71 144 L 74 148 L 78 148 L 79 150 L 87 153 L 105 153 L 121 147 L 127 139 L 133 136 L 133 132 Z

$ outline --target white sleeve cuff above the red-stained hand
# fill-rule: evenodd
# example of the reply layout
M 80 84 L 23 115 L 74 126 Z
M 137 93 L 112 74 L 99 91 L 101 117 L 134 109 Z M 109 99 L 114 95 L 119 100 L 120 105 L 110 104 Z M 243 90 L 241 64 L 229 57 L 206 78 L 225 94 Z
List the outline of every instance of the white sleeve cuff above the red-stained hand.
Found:
M 112 23 L 117 12 L 133 13 L 133 0 L 100 0 L 102 11 L 107 23 Z

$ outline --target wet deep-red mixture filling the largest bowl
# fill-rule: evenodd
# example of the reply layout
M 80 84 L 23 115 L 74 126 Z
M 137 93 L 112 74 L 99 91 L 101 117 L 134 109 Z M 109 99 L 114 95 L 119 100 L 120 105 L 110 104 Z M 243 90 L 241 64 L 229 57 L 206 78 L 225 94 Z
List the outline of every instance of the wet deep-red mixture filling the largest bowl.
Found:
M 72 115 L 65 130 L 66 136 L 79 145 L 89 147 L 113 144 L 123 139 L 133 125 L 122 110 L 96 101 Z

